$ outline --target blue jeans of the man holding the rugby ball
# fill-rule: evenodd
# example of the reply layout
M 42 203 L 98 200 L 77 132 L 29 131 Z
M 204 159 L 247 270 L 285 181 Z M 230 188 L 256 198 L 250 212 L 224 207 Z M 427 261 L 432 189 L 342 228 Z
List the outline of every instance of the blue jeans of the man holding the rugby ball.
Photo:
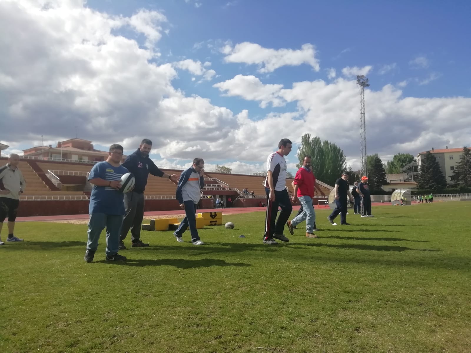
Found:
M 123 218 L 124 216 L 105 215 L 104 213 L 90 214 L 87 250 L 97 251 L 98 239 L 106 227 L 106 255 L 117 254 Z

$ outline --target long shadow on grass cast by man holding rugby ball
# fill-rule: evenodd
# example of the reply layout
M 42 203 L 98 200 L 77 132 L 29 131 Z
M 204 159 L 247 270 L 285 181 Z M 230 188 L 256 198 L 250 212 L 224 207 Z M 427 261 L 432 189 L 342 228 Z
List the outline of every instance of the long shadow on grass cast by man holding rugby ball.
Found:
M 96 261 L 97 263 L 107 263 L 110 261 L 101 260 Z M 252 266 L 251 264 L 244 264 L 241 262 L 226 262 L 224 260 L 204 258 L 200 260 L 188 260 L 188 259 L 175 259 L 175 258 L 164 258 L 156 260 L 132 260 L 128 259 L 123 262 L 115 262 L 116 265 L 125 265 L 125 266 L 174 266 L 177 268 L 188 269 L 188 268 L 197 268 L 197 267 L 211 267 L 211 266 L 236 266 L 236 267 L 248 267 Z

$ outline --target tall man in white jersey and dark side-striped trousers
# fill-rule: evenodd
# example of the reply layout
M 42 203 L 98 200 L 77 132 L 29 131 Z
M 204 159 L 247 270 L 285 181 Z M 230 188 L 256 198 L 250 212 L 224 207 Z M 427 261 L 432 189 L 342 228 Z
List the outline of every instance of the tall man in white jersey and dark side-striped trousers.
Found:
M 265 192 L 267 193 L 267 216 L 265 217 L 264 244 L 277 244 L 273 239 L 289 241 L 283 235 L 284 225 L 292 212 L 290 195 L 286 190 L 286 160 L 291 152 L 291 141 L 284 138 L 278 144 L 278 151 L 270 153 L 267 159 L 267 178 L 265 179 Z M 278 207 L 281 208 L 278 220 L 275 223 Z

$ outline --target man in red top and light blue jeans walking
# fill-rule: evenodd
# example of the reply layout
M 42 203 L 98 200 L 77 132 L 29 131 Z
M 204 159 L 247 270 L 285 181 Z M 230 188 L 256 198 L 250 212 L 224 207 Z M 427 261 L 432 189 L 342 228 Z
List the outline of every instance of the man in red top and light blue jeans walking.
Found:
M 288 230 L 291 235 L 293 235 L 294 227 L 306 220 L 306 237 L 317 238 L 317 235 L 314 234 L 316 213 L 314 212 L 314 206 L 312 205 L 312 198 L 314 197 L 315 186 L 318 190 L 320 190 L 320 188 L 316 183 L 316 176 L 314 176 L 310 167 L 311 157 L 304 156 L 302 167 L 296 172 L 296 176 L 291 184 L 294 189 L 292 202 L 294 203 L 297 198 L 303 210 L 301 214 L 294 217 L 292 221 L 288 221 L 286 225 L 288 226 Z

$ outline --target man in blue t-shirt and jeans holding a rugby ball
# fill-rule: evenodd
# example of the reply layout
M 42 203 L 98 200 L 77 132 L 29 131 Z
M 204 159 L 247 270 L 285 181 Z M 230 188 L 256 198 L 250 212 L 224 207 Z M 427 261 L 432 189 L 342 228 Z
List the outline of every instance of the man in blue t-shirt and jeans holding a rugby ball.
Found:
M 128 173 L 120 163 L 123 148 L 112 144 L 108 159 L 98 162 L 90 171 L 89 182 L 93 185 L 89 204 L 89 230 L 85 261 L 92 262 L 98 248 L 98 239 L 106 227 L 106 260 L 124 261 L 118 254 L 119 237 L 124 210 L 124 194 L 119 191 L 121 177 Z

